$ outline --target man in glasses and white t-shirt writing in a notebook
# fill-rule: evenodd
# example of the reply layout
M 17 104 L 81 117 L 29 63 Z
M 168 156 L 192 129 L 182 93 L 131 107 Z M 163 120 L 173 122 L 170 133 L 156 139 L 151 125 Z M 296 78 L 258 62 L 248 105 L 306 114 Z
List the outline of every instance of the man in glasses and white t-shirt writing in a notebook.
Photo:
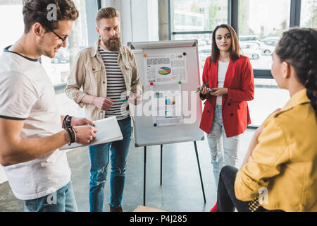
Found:
M 58 114 L 54 87 L 38 61 L 66 47 L 77 17 L 71 0 L 25 1 L 25 32 L 0 57 L 0 163 L 25 211 L 77 211 L 66 153 L 58 148 L 89 143 L 97 129 L 88 119 Z

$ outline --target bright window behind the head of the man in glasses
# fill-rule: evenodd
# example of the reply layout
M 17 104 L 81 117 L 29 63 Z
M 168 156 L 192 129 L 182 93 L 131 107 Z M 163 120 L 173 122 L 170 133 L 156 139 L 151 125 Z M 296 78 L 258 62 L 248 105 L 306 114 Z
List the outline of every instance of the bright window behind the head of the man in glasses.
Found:
M 80 11 L 80 16 L 73 25 L 72 34 L 68 37 L 68 47 L 59 49 L 54 59 L 41 57 L 42 65 L 53 85 L 66 82 L 75 54 L 88 45 L 85 0 L 74 0 L 74 2 Z M 10 23 L 0 24 L 1 34 L 6 34 L 0 35 L 1 52 L 23 35 L 22 8 L 22 0 L 0 0 L 0 20 L 10 21 Z

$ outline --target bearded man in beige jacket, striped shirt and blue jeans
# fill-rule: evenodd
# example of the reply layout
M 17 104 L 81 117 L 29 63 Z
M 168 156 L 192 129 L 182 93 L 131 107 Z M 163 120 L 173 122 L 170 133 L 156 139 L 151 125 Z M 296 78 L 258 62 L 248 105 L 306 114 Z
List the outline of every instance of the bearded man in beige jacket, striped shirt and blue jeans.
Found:
M 99 39 L 77 54 L 68 77 L 66 95 L 80 107 L 88 119 L 116 116 L 122 141 L 89 147 L 91 162 L 89 206 L 92 212 L 103 211 L 104 186 L 111 151 L 110 211 L 122 212 L 125 170 L 131 140 L 128 100 L 142 101 L 142 85 L 131 49 L 120 40 L 120 13 L 112 7 L 101 8 L 96 16 Z M 82 88 L 82 90 L 80 90 Z

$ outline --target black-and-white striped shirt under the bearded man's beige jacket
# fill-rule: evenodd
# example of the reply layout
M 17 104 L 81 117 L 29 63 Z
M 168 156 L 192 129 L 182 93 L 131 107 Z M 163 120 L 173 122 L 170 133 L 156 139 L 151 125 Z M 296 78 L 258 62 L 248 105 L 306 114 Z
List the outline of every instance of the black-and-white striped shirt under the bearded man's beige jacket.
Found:
M 101 58 L 104 60 L 107 77 L 107 97 L 111 100 L 125 100 L 127 95 L 125 79 L 118 66 L 118 52 L 111 52 L 99 46 Z M 114 102 L 111 109 L 106 112 L 106 118 L 116 116 L 117 120 L 130 117 L 128 112 L 128 101 Z

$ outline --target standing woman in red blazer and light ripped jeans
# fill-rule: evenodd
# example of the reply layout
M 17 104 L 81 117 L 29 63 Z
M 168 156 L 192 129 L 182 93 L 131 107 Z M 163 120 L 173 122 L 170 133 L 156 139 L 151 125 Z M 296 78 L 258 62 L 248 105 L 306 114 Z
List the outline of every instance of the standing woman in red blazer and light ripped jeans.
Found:
M 230 25 L 213 30 L 200 97 L 206 100 L 200 129 L 208 134 L 217 190 L 221 168 L 237 164 L 238 135 L 251 123 L 247 101 L 254 97 L 253 70 L 249 58 L 240 54 L 237 34 Z

